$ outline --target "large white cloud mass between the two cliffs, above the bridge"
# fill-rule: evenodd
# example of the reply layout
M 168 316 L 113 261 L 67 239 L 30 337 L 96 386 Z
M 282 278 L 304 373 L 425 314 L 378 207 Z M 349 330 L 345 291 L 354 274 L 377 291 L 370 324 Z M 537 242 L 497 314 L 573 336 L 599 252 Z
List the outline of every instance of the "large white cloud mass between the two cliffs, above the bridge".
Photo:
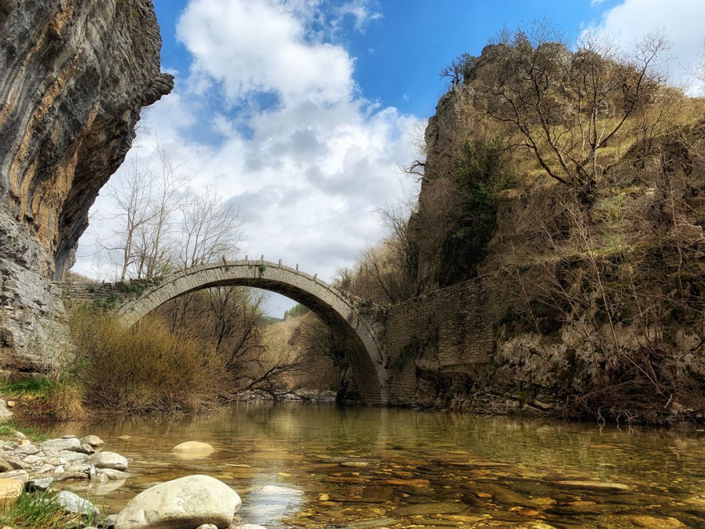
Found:
M 376 17 L 347 14 L 356 24 Z M 380 238 L 375 209 L 411 194 L 397 162 L 415 156 L 419 123 L 360 95 L 354 59 L 312 29 L 326 16 L 341 11 L 325 13 L 316 0 L 190 1 L 177 28 L 190 73 L 147 109 L 136 142 L 147 155 L 158 131 L 197 186 L 212 183 L 240 205 L 250 256 L 298 262 L 322 278 Z M 276 104 L 258 103 L 263 94 Z M 110 207 L 103 197 L 97 206 Z M 89 236 L 80 270 L 90 255 Z

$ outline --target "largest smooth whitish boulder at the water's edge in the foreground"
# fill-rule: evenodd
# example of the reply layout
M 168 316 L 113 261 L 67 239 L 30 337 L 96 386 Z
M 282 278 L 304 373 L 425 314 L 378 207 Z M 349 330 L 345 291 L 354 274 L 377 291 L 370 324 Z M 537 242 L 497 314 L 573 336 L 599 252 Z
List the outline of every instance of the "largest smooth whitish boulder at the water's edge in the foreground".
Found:
M 207 475 L 160 483 L 137 494 L 118 514 L 115 529 L 226 528 L 240 511 L 238 493 Z

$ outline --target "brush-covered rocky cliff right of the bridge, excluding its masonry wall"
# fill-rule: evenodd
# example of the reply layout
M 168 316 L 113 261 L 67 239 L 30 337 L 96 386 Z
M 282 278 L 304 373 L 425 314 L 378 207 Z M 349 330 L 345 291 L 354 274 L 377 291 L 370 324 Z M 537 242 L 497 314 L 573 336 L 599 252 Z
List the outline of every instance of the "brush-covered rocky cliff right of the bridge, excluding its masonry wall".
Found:
M 702 416 L 705 104 L 666 83 L 667 50 L 537 24 L 453 61 L 408 167 L 417 204 L 385 213 L 388 236 L 339 286 L 397 303 L 502 274 L 520 296 L 473 391 L 573 417 Z

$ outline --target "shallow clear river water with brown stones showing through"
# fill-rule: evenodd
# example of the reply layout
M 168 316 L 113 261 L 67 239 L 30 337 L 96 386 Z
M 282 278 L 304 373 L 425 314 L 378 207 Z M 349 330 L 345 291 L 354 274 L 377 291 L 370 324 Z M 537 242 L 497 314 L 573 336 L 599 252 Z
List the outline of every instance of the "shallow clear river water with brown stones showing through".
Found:
M 108 513 L 158 482 L 208 474 L 238 491 L 243 523 L 270 529 L 705 528 L 705 433 L 694 430 L 247 403 L 49 432 L 68 433 L 130 459 L 125 482 L 88 491 Z M 185 441 L 216 451 L 171 454 Z

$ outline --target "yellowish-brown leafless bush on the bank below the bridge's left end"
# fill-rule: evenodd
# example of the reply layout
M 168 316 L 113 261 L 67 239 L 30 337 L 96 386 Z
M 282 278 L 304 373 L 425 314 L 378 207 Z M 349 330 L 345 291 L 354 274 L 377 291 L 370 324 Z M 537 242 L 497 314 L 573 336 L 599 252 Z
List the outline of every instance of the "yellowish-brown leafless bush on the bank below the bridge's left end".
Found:
M 123 413 L 179 413 L 214 406 L 222 361 L 212 348 L 176 336 L 159 317 L 127 329 L 111 315 L 72 320 L 76 376 L 91 407 Z

